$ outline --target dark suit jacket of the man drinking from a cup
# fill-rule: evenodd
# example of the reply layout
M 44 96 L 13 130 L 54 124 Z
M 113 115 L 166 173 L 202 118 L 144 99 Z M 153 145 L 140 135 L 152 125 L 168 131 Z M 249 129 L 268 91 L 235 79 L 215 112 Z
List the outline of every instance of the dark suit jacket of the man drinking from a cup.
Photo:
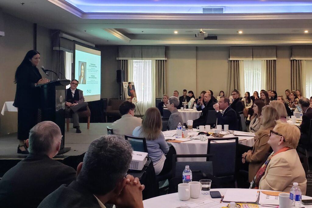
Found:
M 220 111 L 217 113 L 218 125 L 229 125 L 229 130 L 237 130 L 237 114 L 230 106 L 224 111 L 223 115 Z

